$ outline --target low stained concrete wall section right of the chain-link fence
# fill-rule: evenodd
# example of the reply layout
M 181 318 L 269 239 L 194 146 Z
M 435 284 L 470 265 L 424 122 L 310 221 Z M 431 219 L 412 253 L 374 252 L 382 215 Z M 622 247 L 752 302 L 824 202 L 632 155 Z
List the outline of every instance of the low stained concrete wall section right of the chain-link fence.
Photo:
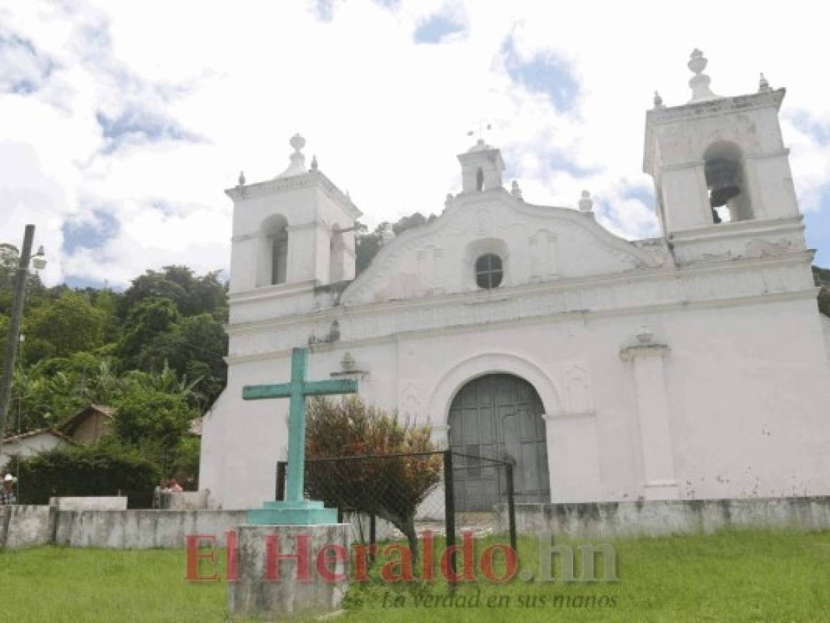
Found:
M 507 530 L 504 504 L 498 528 Z M 690 499 L 601 504 L 516 504 L 516 531 L 573 538 L 657 537 L 723 528 L 830 528 L 830 496 Z

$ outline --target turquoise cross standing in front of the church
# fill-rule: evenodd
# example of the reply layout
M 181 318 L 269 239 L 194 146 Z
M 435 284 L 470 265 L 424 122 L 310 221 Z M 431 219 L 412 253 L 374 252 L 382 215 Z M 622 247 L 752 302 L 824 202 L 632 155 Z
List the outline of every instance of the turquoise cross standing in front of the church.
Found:
M 285 502 L 286 505 L 293 504 L 292 509 L 295 509 L 297 503 L 304 501 L 305 397 L 354 394 L 358 391 L 357 381 L 307 381 L 305 372 L 308 370 L 308 361 L 308 348 L 294 348 L 291 351 L 291 382 L 242 387 L 243 400 L 263 400 L 266 398 L 289 398 L 291 400 L 288 411 L 288 478 Z M 266 504 L 266 506 L 276 508 L 272 507 L 271 504 Z M 320 507 L 322 507 L 321 504 Z

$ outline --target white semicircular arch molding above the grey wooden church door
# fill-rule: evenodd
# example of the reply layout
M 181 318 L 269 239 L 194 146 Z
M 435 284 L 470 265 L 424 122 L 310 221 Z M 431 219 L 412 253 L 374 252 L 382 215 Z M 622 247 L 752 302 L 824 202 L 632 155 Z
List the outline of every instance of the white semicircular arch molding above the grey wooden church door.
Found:
M 562 400 L 553 379 L 525 355 L 516 353 L 479 353 L 447 367 L 429 400 L 432 425 L 447 425 L 452 399 L 467 382 L 486 374 L 513 374 L 532 385 L 542 400 L 545 413 L 561 411 Z M 439 419 L 432 419 L 433 417 Z

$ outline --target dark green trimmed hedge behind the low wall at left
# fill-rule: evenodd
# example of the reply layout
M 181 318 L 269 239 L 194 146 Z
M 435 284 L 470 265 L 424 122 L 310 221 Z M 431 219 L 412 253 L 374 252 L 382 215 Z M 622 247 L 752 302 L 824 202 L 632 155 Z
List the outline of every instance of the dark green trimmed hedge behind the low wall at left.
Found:
M 20 461 L 22 504 L 48 504 L 55 495 L 122 495 L 132 508 L 147 508 L 159 467 L 114 441 L 56 448 Z

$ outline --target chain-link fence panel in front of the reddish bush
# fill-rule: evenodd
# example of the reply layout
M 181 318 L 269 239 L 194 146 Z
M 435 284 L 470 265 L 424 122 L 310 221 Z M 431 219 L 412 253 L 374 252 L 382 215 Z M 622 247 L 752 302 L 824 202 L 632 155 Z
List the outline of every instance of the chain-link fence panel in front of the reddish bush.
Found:
M 288 466 L 276 466 L 276 499 L 284 499 Z M 417 536 L 430 530 L 459 542 L 461 533 L 516 548 L 513 465 L 452 450 L 340 456 L 305 461 L 305 496 L 338 510 L 359 543 Z

